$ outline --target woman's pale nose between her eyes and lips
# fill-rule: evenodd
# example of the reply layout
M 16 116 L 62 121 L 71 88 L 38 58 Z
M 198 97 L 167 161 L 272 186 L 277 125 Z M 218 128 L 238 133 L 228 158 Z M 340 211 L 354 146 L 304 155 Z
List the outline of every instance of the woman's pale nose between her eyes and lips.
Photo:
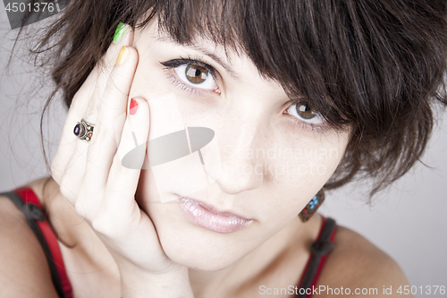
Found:
M 262 136 L 259 119 L 232 116 L 223 129 L 222 173 L 216 180 L 223 192 L 237 194 L 259 188 L 264 180 Z

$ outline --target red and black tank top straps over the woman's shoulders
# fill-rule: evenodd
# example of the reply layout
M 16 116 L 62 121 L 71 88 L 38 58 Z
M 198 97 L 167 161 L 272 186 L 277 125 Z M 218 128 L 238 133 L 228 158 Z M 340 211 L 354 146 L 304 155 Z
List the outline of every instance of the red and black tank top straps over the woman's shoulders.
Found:
M 11 199 L 14 205 L 23 212 L 31 230 L 36 234 L 42 246 L 55 291 L 60 298 L 72 298 L 72 285 L 63 265 L 63 258 L 59 249 L 57 237 L 46 220 L 46 210 L 40 204 L 38 196 L 30 188 L 21 187 L 12 192 L 0 193 Z M 333 249 L 333 239 L 336 224 L 332 218 L 322 217 L 322 225 L 316 242 L 310 247 L 310 256 L 303 275 L 299 280 L 299 294 L 297 298 L 312 296 L 312 289 L 316 285 L 319 275 L 325 265 L 327 255 Z

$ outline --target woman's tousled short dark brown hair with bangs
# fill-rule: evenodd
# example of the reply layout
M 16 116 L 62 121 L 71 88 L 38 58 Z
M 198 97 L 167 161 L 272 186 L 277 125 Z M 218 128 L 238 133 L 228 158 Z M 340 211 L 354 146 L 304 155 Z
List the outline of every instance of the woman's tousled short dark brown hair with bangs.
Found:
M 180 44 L 197 36 L 248 55 L 292 100 L 304 97 L 336 130 L 353 127 L 326 189 L 373 177 L 371 195 L 421 157 L 447 105 L 444 0 L 72 1 L 35 53 L 60 57 L 52 77 L 66 106 L 111 44 L 120 21 L 159 28 Z

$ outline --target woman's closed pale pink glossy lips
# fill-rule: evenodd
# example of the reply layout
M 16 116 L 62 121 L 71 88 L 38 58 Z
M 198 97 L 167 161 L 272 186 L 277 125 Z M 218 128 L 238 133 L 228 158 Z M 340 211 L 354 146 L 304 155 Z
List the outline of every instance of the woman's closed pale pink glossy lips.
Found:
M 207 230 L 217 233 L 232 233 L 253 222 L 252 219 L 240 217 L 228 211 L 217 211 L 197 200 L 179 197 L 179 205 L 190 220 Z

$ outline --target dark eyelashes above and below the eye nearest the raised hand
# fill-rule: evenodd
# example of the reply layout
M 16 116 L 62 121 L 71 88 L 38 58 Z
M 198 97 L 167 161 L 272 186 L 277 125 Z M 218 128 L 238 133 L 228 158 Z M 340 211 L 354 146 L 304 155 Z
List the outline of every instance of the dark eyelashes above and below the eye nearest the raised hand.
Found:
M 166 70 L 173 70 L 175 67 L 178 67 L 178 66 L 181 66 L 184 64 L 198 65 L 198 66 L 205 68 L 207 70 L 207 72 L 209 72 L 209 74 L 213 77 L 214 80 L 216 78 L 215 68 L 206 64 L 206 63 L 199 61 L 198 58 L 190 58 L 190 57 L 182 58 L 182 57 L 180 57 L 179 59 L 173 59 L 173 60 L 169 60 L 169 61 L 165 61 L 165 62 L 160 62 L 160 64 L 162 64 Z M 181 89 L 181 91 L 187 92 L 190 96 L 206 96 L 209 94 L 209 90 L 196 89 L 196 88 L 190 87 L 190 86 L 182 83 L 172 73 L 169 74 L 169 79 L 171 81 L 173 81 L 173 85 L 176 88 Z

